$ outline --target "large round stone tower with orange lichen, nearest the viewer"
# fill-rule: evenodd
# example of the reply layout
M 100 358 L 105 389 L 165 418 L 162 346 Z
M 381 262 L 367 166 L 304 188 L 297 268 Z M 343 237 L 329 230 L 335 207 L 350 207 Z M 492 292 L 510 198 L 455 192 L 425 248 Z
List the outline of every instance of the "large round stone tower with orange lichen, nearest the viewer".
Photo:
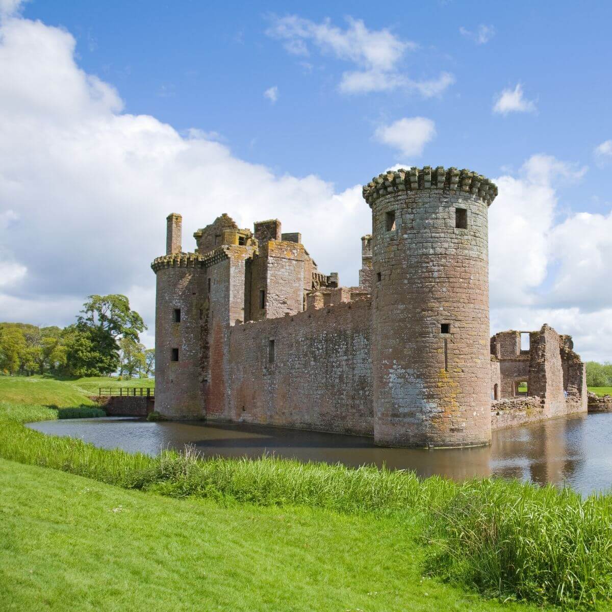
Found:
M 487 211 L 496 195 L 479 174 L 441 166 L 364 186 L 381 446 L 491 441 Z

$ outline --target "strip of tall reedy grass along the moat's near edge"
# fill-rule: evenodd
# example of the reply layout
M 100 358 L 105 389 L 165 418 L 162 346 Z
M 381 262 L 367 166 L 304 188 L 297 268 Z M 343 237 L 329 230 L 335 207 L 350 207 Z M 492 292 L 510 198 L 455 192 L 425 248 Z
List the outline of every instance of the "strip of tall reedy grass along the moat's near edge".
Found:
M 20 418 L 4 414 L 0 425 L 0 455 L 8 460 L 174 498 L 213 500 L 232 510 L 244 504 L 291 512 L 302 507 L 327 513 L 326 520 L 340 513 L 392 521 L 397 537 L 410 535 L 414 554 L 427 557 L 430 573 L 450 583 L 542 605 L 610 602 L 608 497 L 583 501 L 568 490 L 504 480 L 419 480 L 409 472 L 275 458 L 203 461 L 190 453 L 130 455 L 44 436 L 24 428 Z

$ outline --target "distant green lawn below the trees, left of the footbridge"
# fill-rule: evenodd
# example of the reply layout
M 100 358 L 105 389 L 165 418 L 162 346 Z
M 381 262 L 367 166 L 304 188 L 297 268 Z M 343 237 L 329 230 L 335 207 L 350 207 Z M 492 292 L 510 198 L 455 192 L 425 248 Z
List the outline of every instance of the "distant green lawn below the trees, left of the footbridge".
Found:
M 90 395 L 97 395 L 100 387 L 154 387 L 152 378 L 118 380 L 90 377 L 57 379 L 49 376 L 0 376 L 0 401 L 43 406 L 91 406 Z

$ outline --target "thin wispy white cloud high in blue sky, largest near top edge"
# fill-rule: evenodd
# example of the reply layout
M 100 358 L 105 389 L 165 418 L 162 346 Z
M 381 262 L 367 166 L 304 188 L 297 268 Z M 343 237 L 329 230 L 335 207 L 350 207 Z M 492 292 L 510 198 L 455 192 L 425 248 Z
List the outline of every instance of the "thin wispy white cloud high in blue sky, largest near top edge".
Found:
M 370 30 L 359 19 L 348 17 L 346 21 L 347 27 L 342 29 L 329 19 L 316 23 L 297 15 L 273 17 L 266 34 L 283 40 L 289 53 L 308 56 L 310 47 L 315 47 L 323 54 L 354 64 L 356 70 L 344 72 L 338 84 L 345 94 L 403 88 L 432 97 L 454 83 L 453 76 L 446 72 L 424 81 L 408 78 L 400 72 L 400 64 L 407 51 L 419 47 L 417 43 L 402 40 L 386 28 Z

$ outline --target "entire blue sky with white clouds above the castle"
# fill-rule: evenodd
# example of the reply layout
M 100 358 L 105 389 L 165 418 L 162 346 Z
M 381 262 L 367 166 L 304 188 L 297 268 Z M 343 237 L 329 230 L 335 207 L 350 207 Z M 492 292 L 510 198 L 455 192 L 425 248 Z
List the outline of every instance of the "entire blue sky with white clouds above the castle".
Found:
M 278 216 L 354 284 L 359 186 L 453 165 L 500 188 L 492 331 L 550 323 L 612 359 L 612 4 L 0 0 L 0 14 L 0 319 L 66 324 L 88 293 L 122 291 L 152 326 L 148 264 L 171 211 L 184 250 L 221 212 Z

